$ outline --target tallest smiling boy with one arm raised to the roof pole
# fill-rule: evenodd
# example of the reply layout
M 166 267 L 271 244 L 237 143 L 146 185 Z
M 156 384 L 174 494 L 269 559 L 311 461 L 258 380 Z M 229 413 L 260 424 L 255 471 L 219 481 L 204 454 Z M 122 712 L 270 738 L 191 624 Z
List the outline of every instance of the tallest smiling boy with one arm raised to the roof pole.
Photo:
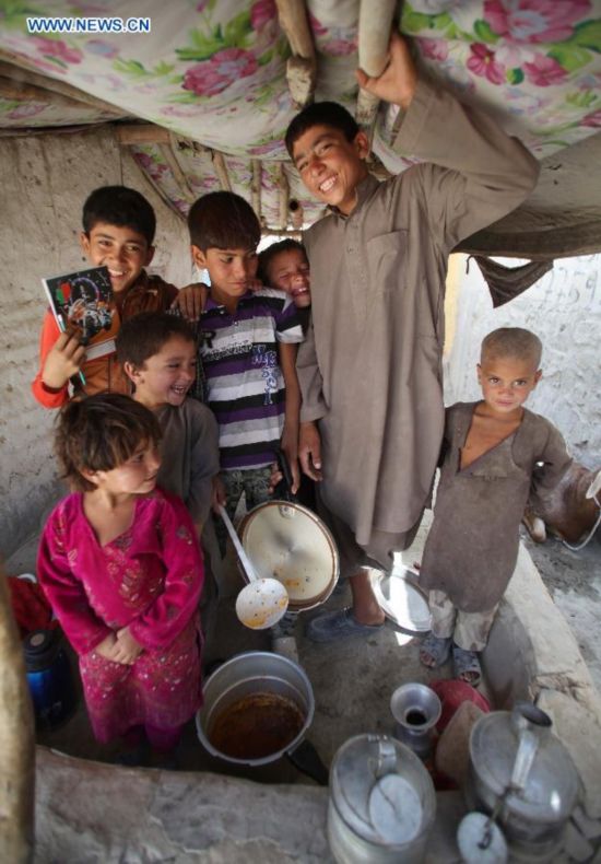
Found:
M 353 608 L 314 618 L 307 632 L 317 641 L 369 634 L 384 621 L 364 565 L 389 569 L 428 501 L 444 428 L 447 257 L 517 207 L 538 175 L 519 141 L 417 78 L 400 36 L 378 79 L 357 77 L 402 109 L 392 147 L 422 163 L 376 180 L 366 135 L 334 103 L 309 105 L 286 132 L 303 183 L 330 211 L 304 236 L 313 326 L 297 360 L 299 459 L 321 480 Z

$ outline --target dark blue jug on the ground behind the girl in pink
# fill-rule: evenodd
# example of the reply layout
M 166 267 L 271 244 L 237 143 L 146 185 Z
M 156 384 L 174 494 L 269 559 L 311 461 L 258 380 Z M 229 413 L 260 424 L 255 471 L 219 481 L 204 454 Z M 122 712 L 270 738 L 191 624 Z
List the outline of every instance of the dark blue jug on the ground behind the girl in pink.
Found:
M 75 709 L 69 657 L 58 629 L 34 630 L 23 640 L 27 684 L 38 729 L 51 729 Z

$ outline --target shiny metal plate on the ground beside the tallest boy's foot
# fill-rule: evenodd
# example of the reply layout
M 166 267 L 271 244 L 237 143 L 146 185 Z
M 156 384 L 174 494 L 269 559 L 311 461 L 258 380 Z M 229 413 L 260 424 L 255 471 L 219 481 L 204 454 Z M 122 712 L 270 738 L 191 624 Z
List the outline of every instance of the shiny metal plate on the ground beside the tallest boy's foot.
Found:
M 385 573 L 369 569 L 369 581 L 386 617 L 403 633 L 423 635 L 432 627 L 427 594 L 416 584 L 414 570 L 402 568 Z

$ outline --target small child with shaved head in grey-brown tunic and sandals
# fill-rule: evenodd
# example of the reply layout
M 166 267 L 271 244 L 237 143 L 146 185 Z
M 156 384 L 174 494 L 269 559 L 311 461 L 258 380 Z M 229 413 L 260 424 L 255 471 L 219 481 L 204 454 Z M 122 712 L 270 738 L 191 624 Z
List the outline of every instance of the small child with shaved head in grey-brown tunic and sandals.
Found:
M 432 633 L 420 657 L 445 663 L 480 681 L 496 610 L 516 567 L 519 525 L 531 484 L 554 486 L 571 459 L 559 432 L 523 408 L 541 377 L 542 346 L 520 327 L 503 327 L 482 342 L 479 402 L 446 412 L 445 459 L 420 584 L 429 589 Z M 541 465 L 542 463 L 542 465 Z

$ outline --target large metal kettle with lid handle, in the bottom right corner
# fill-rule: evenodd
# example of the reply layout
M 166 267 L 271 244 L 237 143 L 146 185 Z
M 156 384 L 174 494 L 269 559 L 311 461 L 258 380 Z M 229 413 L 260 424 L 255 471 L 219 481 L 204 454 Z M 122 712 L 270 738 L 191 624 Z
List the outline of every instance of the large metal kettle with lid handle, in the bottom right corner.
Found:
M 579 778 L 549 714 L 518 702 L 480 717 L 470 736 L 468 804 L 494 816 L 510 852 L 549 861 L 562 848 Z

